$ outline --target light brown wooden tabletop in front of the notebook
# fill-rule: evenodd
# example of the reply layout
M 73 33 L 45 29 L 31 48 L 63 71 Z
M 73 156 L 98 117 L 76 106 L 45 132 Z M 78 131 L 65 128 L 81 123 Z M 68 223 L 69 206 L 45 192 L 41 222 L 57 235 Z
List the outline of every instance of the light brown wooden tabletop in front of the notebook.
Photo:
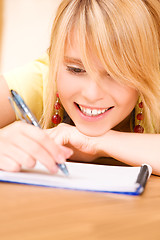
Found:
M 159 240 L 160 177 L 141 196 L 0 183 L 1 240 Z

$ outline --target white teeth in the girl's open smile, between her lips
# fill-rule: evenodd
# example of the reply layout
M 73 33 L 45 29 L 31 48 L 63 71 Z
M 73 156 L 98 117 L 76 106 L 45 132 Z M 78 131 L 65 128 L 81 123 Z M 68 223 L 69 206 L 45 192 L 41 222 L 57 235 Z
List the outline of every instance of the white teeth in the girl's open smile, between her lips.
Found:
M 77 107 L 79 108 L 79 110 L 86 116 L 89 116 L 89 117 L 97 117 L 97 116 L 100 116 L 102 114 L 104 114 L 105 112 L 107 112 L 108 110 L 112 109 L 114 106 L 111 106 L 109 108 L 103 108 L 103 109 L 98 109 L 98 108 L 86 108 L 86 107 L 83 107 L 79 104 L 77 104 Z

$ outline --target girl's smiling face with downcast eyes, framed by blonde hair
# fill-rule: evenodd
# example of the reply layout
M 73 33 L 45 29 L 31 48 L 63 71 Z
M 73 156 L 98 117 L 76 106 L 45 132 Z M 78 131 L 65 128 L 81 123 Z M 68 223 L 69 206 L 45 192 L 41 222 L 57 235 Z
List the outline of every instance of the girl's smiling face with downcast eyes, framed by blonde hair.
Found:
M 76 43 L 67 47 L 58 72 L 57 89 L 78 130 L 88 136 L 100 136 L 127 118 L 136 105 L 138 93 L 112 79 L 97 59 L 94 63 L 99 74 L 93 79 L 81 59 Z

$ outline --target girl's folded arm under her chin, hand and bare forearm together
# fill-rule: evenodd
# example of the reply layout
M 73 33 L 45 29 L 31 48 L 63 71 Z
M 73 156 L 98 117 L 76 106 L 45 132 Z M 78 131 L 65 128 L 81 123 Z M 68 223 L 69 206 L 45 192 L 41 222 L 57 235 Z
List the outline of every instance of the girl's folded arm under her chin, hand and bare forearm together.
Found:
M 102 136 L 87 137 L 67 124 L 47 131 L 56 143 L 73 149 L 73 160 L 88 162 L 98 157 L 112 157 L 132 166 L 149 164 L 153 173 L 160 175 L 160 134 L 110 130 Z

